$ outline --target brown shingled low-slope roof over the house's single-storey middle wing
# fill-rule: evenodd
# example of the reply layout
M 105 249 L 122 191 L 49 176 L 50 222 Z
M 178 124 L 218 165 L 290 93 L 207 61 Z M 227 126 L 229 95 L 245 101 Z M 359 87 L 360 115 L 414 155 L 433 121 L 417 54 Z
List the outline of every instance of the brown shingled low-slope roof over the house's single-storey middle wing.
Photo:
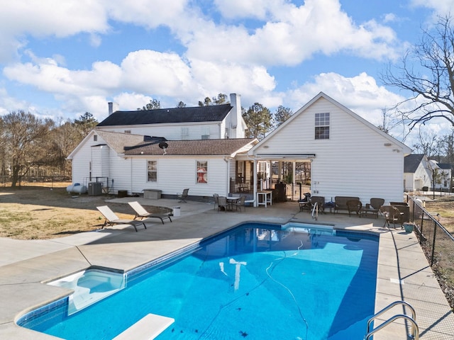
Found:
M 167 140 L 166 149 L 159 142 L 143 142 L 126 147 L 125 156 L 195 156 L 226 155 L 235 157 L 239 152 L 247 152 L 258 142 L 255 138 L 235 138 L 231 140 Z

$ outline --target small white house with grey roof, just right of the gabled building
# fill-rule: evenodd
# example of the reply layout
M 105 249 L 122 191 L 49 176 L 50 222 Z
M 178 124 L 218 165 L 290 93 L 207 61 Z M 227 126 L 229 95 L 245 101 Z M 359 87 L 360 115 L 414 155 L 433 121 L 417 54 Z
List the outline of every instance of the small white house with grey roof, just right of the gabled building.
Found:
M 404 191 L 432 188 L 432 165 L 425 154 L 409 154 L 404 159 Z

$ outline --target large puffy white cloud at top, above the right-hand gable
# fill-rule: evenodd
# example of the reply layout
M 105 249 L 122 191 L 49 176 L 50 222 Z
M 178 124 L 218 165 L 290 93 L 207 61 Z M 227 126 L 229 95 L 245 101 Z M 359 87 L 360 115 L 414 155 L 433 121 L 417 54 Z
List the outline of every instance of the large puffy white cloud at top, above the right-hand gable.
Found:
M 269 66 L 296 65 L 319 52 L 332 55 L 346 51 L 376 60 L 398 55 L 397 37 L 391 28 L 376 21 L 354 23 L 341 10 L 338 0 L 306 0 L 301 6 L 282 5 L 285 11 L 282 6 L 267 7 L 268 1 L 263 4 L 267 11 L 273 12 L 267 22 L 252 32 L 245 26 L 214 22 L 197 27 L 192 40 L 187 42 L 187 56 Z M 226 15 L 226 12 L 222 13 Z

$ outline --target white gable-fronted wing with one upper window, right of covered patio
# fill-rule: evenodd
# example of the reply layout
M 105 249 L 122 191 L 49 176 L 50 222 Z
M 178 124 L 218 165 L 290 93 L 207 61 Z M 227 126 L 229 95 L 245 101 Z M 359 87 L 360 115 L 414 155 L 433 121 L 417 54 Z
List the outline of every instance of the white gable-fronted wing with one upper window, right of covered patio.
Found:
M 402 201 L 404 156 L 411 149 L 321 92 L 248 155 L 266 162 L 309 162 L 311 193 Z M 256 181 L 256 179 L 255 179 Z M 254 186 L 255 188 L 257 186 Z

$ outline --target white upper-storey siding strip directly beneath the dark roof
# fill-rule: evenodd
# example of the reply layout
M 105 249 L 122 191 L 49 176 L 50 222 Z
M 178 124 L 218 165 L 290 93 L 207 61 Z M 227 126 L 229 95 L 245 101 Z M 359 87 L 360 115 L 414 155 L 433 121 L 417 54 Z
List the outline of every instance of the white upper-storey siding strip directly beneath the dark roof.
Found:
M 182 128 L 187 128 L 187 137 L 182 138 Z M 110 132 L 131 131 L 135 135 L 148 135 L 155 137 L 165 137 L 167 140 L 201 140 L 202 135 L 209 132 L 210 140 L 221 139 L 221 129 L 218 123 L 194 123 L 192 124 L 155 124 L 155 125 L 128 125 L 128 126 L 103 126 L 99 130 Z

